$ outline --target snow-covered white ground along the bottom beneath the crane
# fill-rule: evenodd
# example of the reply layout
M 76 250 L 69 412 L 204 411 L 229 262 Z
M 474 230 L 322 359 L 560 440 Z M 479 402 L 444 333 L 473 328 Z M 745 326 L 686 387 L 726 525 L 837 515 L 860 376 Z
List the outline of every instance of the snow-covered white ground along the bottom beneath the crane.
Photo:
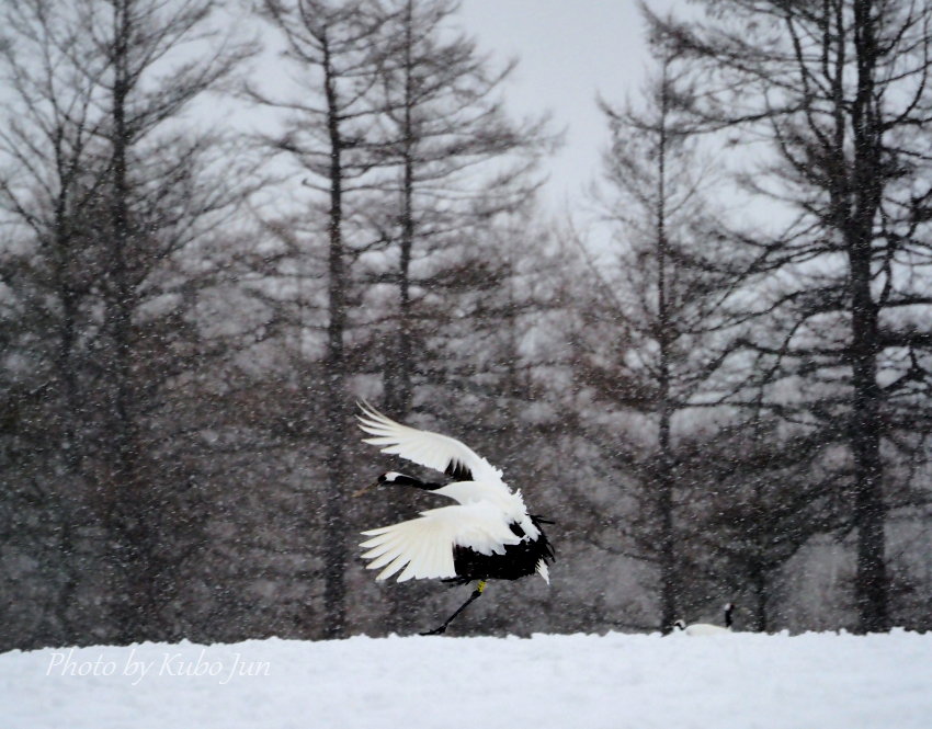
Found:
M 930 729 L 932 634 L 351 638 L 0 654 L 4 729 Z

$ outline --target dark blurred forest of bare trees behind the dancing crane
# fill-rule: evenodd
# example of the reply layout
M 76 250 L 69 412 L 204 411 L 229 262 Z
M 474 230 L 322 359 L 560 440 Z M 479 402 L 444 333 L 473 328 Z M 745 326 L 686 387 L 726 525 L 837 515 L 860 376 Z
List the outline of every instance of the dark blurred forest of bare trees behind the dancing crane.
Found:
M 0 649 L 431 627 L 360 398 L 556 522 L 461 633 L 932 628 L 932 2 L 645 7 L 611 238 L 452 0 L 230 8 L 3 3 Z

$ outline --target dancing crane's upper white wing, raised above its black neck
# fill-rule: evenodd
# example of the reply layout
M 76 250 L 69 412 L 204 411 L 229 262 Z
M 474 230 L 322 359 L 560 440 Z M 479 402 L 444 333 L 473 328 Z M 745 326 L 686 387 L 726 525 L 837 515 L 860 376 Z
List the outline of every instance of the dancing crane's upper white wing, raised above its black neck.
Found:
M 504 487 L 501 471 L 456 438 L 402 425 L 368 403 L 359 406 L 363 411 L 357 415 L 360 428 L 375 436 L 363 438 L 363 443 L 384 446 L 382 453 L 443 471 L 457 481 L 488 481 Z

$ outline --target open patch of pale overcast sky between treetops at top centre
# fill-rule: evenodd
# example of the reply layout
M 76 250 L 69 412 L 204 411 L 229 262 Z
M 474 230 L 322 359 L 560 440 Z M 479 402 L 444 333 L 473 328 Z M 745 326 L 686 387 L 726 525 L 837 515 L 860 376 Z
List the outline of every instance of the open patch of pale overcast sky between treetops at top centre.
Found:
M 649 0 L 657 12 L 682 0 Z M 566 146 L 549 163 L 548 196 L 570 206 L 600 172 L 607 127 L 595 94 L 636 94 L 648 68 L 635 0 L 463 0 L 461 23 L 482 50 L 519 66 L 505 88 L 515 114 L 549 110 Z

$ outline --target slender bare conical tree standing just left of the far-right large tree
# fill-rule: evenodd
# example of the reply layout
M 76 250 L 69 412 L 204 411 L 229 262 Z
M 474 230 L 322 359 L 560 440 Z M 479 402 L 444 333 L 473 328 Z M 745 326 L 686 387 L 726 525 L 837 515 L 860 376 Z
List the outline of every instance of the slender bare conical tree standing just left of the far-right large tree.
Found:
M 640 109 L 601 102 L 612 129 L 602 204 L 616 233 L 611 267 L 590 263 L 587 277 L 595 285 L 575 335 L 580 385 L 638 431 L 637 445 L 602 440 L 620 466 L 637 474 L 639 516 L 629 535 L 636 546 L 628 550 L 656 567 L 662 630 L 672 628 L 684 590 L 677 494 L 687 476 L 677 442 L 696 417 L 690 409 L 717 400 L 715 376 L 735 339 L 726 304 L 741 281 L 707 202 L 714 174 L 678 107 L 678 99 L 694 93 L 683 69 L 659 53 Z

